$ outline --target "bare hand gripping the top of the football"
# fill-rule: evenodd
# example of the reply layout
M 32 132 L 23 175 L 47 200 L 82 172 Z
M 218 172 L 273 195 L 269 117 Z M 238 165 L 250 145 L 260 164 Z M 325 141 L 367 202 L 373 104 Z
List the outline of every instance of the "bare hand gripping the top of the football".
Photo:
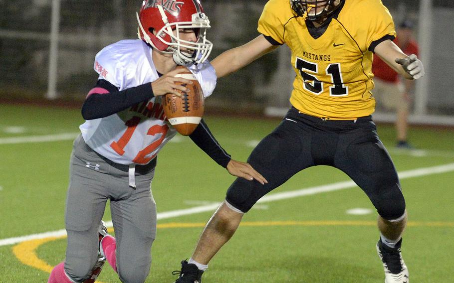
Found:
M 192 84 L 193 82 L 191 80 L 184 78 L 175 78 L 175 75 L 183 73 L 185 71 L 186 70 L 184 68 L 177 68 L 152 82 L 151 88 L 153 89 L 153 94 L 155 96 L 160 96 L 172 93 L 178 97 L 181 97 L 179 90 L 182 92 L 190 92 L 190 89 L 184 87 L 182 84 Z

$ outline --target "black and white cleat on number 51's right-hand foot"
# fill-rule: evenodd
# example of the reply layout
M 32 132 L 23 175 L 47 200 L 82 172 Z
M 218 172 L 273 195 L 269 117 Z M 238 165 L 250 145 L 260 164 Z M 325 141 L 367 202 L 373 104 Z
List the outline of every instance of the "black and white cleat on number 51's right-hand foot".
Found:
M 396 248 L 390 248 L 378 240 L 377 252 L 385 269 L 385 283 L 409 283 L 408 269 L 401 254 L 402 239 Z

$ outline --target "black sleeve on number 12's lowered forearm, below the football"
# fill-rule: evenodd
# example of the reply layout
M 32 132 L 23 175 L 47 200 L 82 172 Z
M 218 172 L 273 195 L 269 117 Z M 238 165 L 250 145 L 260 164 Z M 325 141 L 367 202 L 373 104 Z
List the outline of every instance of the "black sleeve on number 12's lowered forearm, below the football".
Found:
M 216 141 L 213 134 L 208 129 L 207 124 L 202 119 L 196 130 L 189 136 L 197 146 L 199 146 L 205 153 L 207 153 L 213 160 L 224 168 L 227 167 L 231 157 L 230 154 L 222 148 L 218 141 Z

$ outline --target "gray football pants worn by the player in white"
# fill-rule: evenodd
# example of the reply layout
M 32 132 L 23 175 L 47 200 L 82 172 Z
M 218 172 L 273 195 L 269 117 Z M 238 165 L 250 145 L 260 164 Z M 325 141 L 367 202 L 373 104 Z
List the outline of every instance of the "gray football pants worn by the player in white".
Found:
M 74 141 L 66 199 L 68 244 L 64 265 L 73 281 L 83 282 L 97 261 L 97 230 L 109 199 L 118 276 L 125 283 L 145 282 L 156 236 L 156 204 L 150 188 L 155 165 L 153 161 L 136 167 L 134 189 L 129 186 L 128 165 L 98 155 L 80 136 Z

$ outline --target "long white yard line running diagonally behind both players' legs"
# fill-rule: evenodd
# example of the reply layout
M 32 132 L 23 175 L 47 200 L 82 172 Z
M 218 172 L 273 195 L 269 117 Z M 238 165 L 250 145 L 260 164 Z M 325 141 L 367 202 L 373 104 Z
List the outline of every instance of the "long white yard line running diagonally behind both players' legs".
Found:
M 447 173 L 447 172 L 451 172 L 451 171 L 454 171 L 454 163 L 399 172 L 399 177 L 400 177 L 400 179 L 407 179 L 407 178 L 421 177 L 421 176 L 426 176 L 426 175 Z M 282 199 L 289 199 L 289 198 L 295 198 L 295 197 L 306 196 L 306 195 L 314 195 L 314 194 L 319 194 L 319 193 L 324 193 L 324 192 L 338 191 L 338 190 L 349 189 L 349 188 L 353 188 L 353 187 L 356 187 L 356 184 L 353 181 L 332 183 L 332 184 L 328 184 L 328 185 L 315 186 L 315 187 L 299 189 L 299 190 L 295 190 L 295 191 L 269 194 L 269 195 L 262 197 L 258 201 L 258 203 L 272 202 L 272 201 L 277 201 L 277 200 L 282 200 Z M 197 214 L 197 213 L 202 213 L 202 212 L 207 212 L 207 211 L 214 211 L 215 209 L 218 208 L 218 206 L 219 206 L 219 203 L 214 203 L 214 204 L 209 204 L 209 205 L 192 207 L 192 208 L 188 208 L 188 209 L 161 212 L 161 213 L 158 213 L 158 220 L 175 218 L 175 217 L 180 217 L 180 216 L 184 216 L 184 215 Z M 111 221 L 107 222 L 106 224 L 108 227 L 112 227 Z M 58 230 L 58 231 L 45 232 L 45 233 L 33 234 L 33 235 L 22 236 L 22 237 L 8 238 L 8 239 L 0 240 L 0 247 L 7 246 L 7 245 L 13 245 L 13 244 L 17 244 L 17 243 L 21 243 L 21 242 L 29 241 L 29 240 L 44 239 L 44 238 L 48 238 L 48 237 L 62 237 L 65 235 L 66 235 L 66 231 L 64 229 L 62 229 L 62 230 Z

